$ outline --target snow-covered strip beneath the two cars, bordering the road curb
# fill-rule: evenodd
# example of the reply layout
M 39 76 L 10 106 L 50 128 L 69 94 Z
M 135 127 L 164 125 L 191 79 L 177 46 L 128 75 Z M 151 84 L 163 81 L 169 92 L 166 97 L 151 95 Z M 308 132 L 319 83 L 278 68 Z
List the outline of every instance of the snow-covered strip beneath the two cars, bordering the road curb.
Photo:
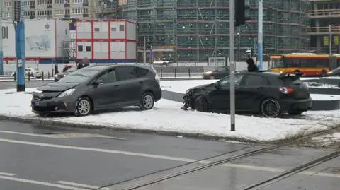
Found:
M 28 88 L 32 92 L 35 88 Z M 31 95 L 15 93 L 15 89 L 0 90 L 0 114 L 23 118 L 38 117 L 30 109 Z M 12 94 L 8 94 L 14 92 Z M 295 119 L 268 119 L 251 116 L 236 116 L 237 131 L 230 131 L 227 114 L 183 111 L 180 102 L 160 100 L 154 109 L 140 111 L 128 107 L 121 111 L 94 114 L 87 117 L 50 117 L 54 121 L 77 124 L 98 124 L 126 129 L 150 129 L 201 133 L 229 138 L 244 138 L 252 141 L 274 141 L 297 134 L 320 131 L 340 124 L 340 112 L 306 112 Z M 41 119 L 46 119 L 39 117 Z

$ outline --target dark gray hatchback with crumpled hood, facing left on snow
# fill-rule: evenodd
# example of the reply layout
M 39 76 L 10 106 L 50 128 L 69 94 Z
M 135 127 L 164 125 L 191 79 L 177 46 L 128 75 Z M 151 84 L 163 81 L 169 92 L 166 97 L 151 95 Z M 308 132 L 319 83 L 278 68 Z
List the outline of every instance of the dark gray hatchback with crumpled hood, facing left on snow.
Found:
M 89 66 L 33 92 L 32 111 L 69 112 L 86 116 L 92 111 L 139 106 L 152 109 L 162 98 L 160 79 L 145 65 Z

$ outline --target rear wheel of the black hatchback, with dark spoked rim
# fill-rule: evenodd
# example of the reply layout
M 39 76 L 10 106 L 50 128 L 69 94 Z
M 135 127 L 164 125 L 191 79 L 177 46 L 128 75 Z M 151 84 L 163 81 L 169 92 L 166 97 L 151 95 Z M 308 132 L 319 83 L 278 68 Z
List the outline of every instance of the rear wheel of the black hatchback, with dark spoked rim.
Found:
M 260 111 L 264 117 L 278 117 L 281 113 L 281 106 L 278 100 L 268 98 L 261 102 Z

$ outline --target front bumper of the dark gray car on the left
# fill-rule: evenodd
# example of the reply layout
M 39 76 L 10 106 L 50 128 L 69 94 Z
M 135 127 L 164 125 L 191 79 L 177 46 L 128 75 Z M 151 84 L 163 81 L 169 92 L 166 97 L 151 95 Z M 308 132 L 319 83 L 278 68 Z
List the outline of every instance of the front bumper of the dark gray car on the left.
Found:
M 75 112 L 75 100 L 69 100 L 69 98 L 52 98 L 50 100 L 31 100 L 32 112 L 41 114 L 41 113 L 73 113 Z

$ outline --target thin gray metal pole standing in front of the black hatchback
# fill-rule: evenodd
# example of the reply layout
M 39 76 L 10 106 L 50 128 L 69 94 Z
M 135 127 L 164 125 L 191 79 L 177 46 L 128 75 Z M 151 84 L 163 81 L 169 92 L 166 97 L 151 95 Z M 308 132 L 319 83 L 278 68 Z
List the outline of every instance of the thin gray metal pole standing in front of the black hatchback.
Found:
M 229 1 L 229 28 L 230 28 L 230 128 L 235 131 L 235 1 Z

